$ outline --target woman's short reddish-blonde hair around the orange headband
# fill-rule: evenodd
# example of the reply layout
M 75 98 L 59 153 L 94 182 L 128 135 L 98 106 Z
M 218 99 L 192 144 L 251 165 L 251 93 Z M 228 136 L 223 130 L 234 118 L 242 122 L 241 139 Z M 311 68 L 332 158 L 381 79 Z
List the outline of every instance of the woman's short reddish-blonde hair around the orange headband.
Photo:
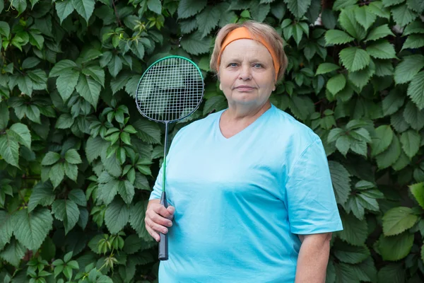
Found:
M 276 53 L 276 57 L 278 58 L 278 63 L 280 64 L 280 69 L 275 70 L 277 73 L 277 81 L 283 79 L 285 69 L 287 69 L 287 56 L 285 55 L 283 45 L 284 41 L 280 35 L 276 32 L 276 30 L 271 27 L 271 25 L 267 25 L 266 23 L 259 23 L 255 21 L 245 21 L 244 23 L 228 23 L 224 25 L 218 31 L 215 40 L 215 46 L 213 47 L 210 67 L 211 70 L 218 74 L 219 65 L 218 65 L 218 56 L 221 52 L 221 45 L 223 44 L 225 37 L 227 37 L 228 33 L 236 28 L 245 27 L 249 30 L 249 33 L 252 34 L 253 37 L 261 37 L 266 42 L 271 45 L 274 52 Z

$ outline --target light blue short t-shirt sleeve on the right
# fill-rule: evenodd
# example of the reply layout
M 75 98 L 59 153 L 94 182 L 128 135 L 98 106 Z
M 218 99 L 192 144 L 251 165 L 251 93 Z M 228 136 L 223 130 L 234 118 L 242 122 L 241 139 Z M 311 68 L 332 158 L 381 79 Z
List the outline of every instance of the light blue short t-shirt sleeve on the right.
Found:
M 319 138 L 295 160 L 285 190 L 292 233 L 306 235 L 343 230 L 328 161 Z

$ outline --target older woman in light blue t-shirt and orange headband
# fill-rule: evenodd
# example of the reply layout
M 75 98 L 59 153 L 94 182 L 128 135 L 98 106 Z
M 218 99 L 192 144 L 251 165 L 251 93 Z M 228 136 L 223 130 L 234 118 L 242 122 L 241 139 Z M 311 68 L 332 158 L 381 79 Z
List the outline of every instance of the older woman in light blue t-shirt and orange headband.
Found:
M 182 128 L 146 211 L 168 233 L 159 282 L 324 282 L 331 232 L 342 229 L 322 142 L 269 102 L 283 40 L 263 23 L 225 25 L 211 69 L 228 109 Z

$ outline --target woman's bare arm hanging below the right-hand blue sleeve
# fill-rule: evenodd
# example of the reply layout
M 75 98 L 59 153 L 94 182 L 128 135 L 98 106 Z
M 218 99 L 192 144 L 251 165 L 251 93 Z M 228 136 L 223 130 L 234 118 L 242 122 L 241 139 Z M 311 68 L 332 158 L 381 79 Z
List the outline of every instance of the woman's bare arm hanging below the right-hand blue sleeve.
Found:
M 295 283 L 324 283 L 329 262 L 331 233 L 299 235 L 302 246 Z

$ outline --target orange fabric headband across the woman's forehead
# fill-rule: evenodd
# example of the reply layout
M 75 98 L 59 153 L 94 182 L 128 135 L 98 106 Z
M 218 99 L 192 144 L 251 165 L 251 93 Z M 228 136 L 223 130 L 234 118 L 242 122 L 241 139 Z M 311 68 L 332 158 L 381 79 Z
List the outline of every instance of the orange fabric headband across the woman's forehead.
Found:
M 276 71 L 276 80 L 277 80 L 278 70 L 280 70 L 280 64 L 278 63 L 278 57 L 276 55 L 276 52 L 274 52 L 271 45 L 269 45 L 269 43 L 266 42 L 266 40 L 264 40 L 264 38 L 262 38 L 262 37 L 259 37 L 259 38 L 252 37 L 249 30 L 245 27 L 236 28 L 235 30 L 230 31 L 230 33 L 228 33 L 228 35 L 225 37 L 225 40 L 221 45 L 221 50 L 218 54 L 218 68 L 219 68 L 219 64 L 220 64 L 220 57 L 221 57 L 221 54 L 223 54 L 225 47 L 227 47 L 227 45 L 229 45 L 231 42 L 233 42 L 235 40 L 244 40 L 244 39 L 255 40 L 257 42 L 260 42 L 262 45 L 264 45 L 264 47 L 266 47 L 266 49 L 271 54 L 273 66 L 274 66 L 274 69 Z

